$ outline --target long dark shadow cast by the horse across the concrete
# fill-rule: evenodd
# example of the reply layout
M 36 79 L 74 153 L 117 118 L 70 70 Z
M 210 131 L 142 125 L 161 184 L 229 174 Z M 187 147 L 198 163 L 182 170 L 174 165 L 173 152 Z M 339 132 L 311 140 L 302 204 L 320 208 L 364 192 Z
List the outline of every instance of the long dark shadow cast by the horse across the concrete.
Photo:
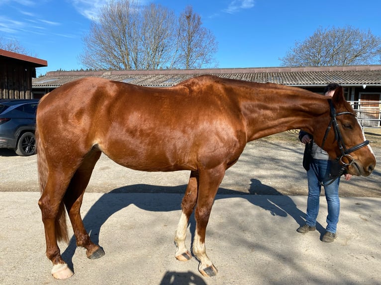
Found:
M 116 188 L 109 193 L 103 194 L 95 204 L 89 209 L 85 217 L 83 218 L 84 225 L 86 230 L 89 232 L 92 241 L 95 244 L 99 244 L 99 232 L 103 223 L 114 213 L 126 208 L 129 205 L 135 205 L 136 207 L 151 211 L 151 212 L 170 212 L 170 211 L 178 211 L 181 210 L 181 201 L 183 199 L 180 195 L 173 195 L 171 200 L 161 200 L 161 193 L 185 193 L 187 185 L 179 185 L 174 187 L 166 187 L 166 186 L 153 186 L 146 184 L 137 184 L 137 185 L 129 185 L 123 186 L 120 188 Z M 134 193 L 135 195 L 131 195 L 128 199 L 125 199 L 124 195 L 118 194 L 126 194 L 126 193 Z M 155 199 L 155 203 L 147 203 L 145 199 L 147 197 L 147 193 L 153 193 L 157 195 Z M 251 179 L 251 184 L 249 188 L 249 195 L 242 194 L 242 192 L 220 188 L 218 190 L 218 194 L 216 199 L 226 199 L 230 198 L 231 195 L 239 195 L 239 197 L 247 199 L 253 205 L 259 206 L 267 211 L 269 211 L 272 215 L 276 216 L 287 216 L 290 215 L 294 218 L 294 220 L 302 225 L 304 223 L 305 213 L 300 211 L 296 204 L 292 201 L 292 199 L 288 196 L 284 196 L 282 193 L 278 192 L 275 188 L 262 184 L 257 179 Z M 258 195 L 267 195 L 261 197 L 259 199 Z M 86 196 L 86 194 L 85 194 Z M 257 196 L 257 197 L 256 197 Z M 282 199 L 280 199 L 282 196 Z M 86 199 L 86 197 L 85 197 Z M 319 225 L 317 225 L 319 227 Z M 192 235 L 191 240 L 193 240 L 193 235 L 195 231 L 195 221 L 193 214 L 190 218 L 190 232 Z M 320 226 L 321 227 L 321 226 Z M 321 227 L 322 228 L 322 227 Z M 296 229 L 296 226 L 295 226 Z M 63 259 L 68 263 L 68 266 L 73 269 L 72 258 L 76 251 L 76 239 L 73 236 L 66 250 L 62 253 Z

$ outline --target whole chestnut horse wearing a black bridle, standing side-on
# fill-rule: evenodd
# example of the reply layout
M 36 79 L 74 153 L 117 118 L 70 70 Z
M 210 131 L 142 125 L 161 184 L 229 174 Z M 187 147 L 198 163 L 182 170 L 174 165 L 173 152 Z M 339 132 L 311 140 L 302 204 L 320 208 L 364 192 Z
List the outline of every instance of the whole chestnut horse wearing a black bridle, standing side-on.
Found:
M 187 261 L 193 254 L 203 276 L 216 275 L 206 254 L 205 231 L 226 169 L 246 143 L 291 129 L 312 134 L 319 145 L 324 141 L 324 149 L 340 158 L 350 174 L 368 176 L 376 166 L 341 87 L 327 98 L 297 87 L 201 75 L 172 87 L 86 77 L 54 89 L 41 99 L 36 124 L 38 205 L 53 277 L 74 274 L 57 245 L 68 241 L 65 208 L 77 246 L 86 248 L 90 259 L 104 255 L 91 241 L 80 214 L 102 152 L 135 170 L 190 171 L 175 233 L 175 257 Z M 193 211 L 191 254 L 185 240 Z

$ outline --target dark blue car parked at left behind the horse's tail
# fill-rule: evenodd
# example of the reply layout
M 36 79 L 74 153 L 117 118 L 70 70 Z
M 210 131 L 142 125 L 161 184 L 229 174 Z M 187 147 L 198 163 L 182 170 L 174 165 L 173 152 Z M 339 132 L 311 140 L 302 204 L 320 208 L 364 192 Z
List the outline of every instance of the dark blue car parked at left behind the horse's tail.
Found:
M 38 99 L 0 100 L 0 148 L 14 149 L 20 156 L 36 153 Z

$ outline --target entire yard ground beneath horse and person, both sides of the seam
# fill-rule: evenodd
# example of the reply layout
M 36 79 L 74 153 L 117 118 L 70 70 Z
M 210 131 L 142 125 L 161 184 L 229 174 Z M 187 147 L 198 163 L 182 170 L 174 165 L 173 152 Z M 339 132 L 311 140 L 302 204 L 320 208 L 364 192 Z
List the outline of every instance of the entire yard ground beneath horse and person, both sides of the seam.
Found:
M 370 137 L 380 161 L 380 136 Z M 137 172 L 102 156 L 82 216 L 106 255 L 87 259 L 72 237 L 60 247 L 75 275 L 56 281 L 45 256 L 36 156 L 0 150 L 0 284 L 381 284 L 378 167 L 369 177 L 341 182 L 338 238 L 327 244 L 320 241 L 326 226 L 324 197 L 317 231 L 296 232 L 306 209 L 302 152 L 292 135 L 271 136 L 249 143 L 227 171 L 206 232 L 208 256 L 219 270 L 212 278 L 198 273 L 196 260 L 184 263 L 174 257 L 189 172 Z M 194 226 L 192 217 L 189 248 Z

